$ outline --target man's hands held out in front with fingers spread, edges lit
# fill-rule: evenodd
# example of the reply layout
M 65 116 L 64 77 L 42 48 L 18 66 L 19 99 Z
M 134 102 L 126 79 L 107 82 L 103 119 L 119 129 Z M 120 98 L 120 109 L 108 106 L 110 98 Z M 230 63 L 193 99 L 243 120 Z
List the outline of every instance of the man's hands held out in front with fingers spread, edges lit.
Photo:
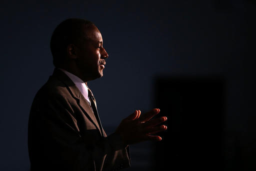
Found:
M 154 108 L 140 116 L 140 110 L 135 110 L 131 115 L 124 118 L 116 129 L 124 143 L 132 144 L 144 140 L 161 140 L 160 136 L 154 133 L 167 129 L 165 125 L 158 125 L 167 120 L 167 117 L 153 118 L 159 113 L 159 108 Z

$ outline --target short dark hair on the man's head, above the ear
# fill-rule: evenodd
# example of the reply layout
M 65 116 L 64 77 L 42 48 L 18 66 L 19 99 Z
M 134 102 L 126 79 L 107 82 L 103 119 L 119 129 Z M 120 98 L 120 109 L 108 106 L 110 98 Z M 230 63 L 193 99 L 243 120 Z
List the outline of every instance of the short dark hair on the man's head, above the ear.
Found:
M 50 38 L 50 50 L 55 67 L 59 67 L 65 61 L 67 45 L 79 43 L 81 37 L 85 38 L 84 28 L 91 25 L 94 25 L 91 21 L 80 18 L 68 18 L 57 25 Z

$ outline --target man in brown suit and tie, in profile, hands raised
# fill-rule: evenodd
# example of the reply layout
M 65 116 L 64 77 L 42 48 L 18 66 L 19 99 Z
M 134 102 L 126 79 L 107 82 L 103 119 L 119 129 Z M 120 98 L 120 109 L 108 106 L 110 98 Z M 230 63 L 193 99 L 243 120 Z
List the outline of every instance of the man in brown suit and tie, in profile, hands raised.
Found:
M 53 31 L 50 48 L 55 69 L 36 93 L 28 122 L 28 151 L 33 170 L 118 170 L 130 166 L 128 145 L 161 140 L 167 127 L 155 108 L 121 121 L 107 136 L 87 81 L 103 75 L 102 36 L 90 21 L 70 18 Z M 109 113 L 112 114 L 112 113 Z

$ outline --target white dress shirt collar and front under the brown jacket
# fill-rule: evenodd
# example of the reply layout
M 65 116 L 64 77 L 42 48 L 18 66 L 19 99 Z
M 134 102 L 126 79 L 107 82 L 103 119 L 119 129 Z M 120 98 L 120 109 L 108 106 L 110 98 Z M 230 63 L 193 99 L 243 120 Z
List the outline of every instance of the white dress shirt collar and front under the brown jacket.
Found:
M 88 97 L 88 87 L 86 86 L 85 82 L 83 80 L 81 80 L 78 76 L 75 76 L 74 74 L 59 68 L 60 70 L 62 70 L 75 84 L 75 86 L 79 89 L 79 91 L 82 93 L 83 97 L 89 102 L 90 104 L 90 100 Z

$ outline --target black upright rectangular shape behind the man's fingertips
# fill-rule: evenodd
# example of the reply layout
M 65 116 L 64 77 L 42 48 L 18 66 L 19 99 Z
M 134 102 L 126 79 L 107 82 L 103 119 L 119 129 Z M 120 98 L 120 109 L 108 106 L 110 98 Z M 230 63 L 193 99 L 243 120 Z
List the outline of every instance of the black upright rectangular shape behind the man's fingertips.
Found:
M 168 129 L 156 144 L 155 170 L 224 168 L 224 89 L 218 77 L 156 79 L 156 106 Z

